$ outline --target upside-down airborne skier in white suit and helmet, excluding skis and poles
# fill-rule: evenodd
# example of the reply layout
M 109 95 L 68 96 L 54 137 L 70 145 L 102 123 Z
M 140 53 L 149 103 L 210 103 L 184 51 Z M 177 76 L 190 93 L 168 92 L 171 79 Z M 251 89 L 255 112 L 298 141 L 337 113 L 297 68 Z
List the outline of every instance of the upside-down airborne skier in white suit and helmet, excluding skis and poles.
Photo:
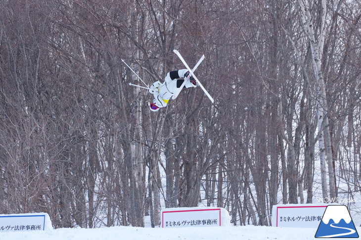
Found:
M 167 106 L 169 99 L 177 95 L 182 86 L 184 86 L 183 88 L 195 88 L 198 84 L 187 69 L 167 73 L 163 84 L 157 81 L 150 86 L 149 93 L 154 95 L 154 99 L 149 103 L 149 109 L 156 112 L 159 108 Z

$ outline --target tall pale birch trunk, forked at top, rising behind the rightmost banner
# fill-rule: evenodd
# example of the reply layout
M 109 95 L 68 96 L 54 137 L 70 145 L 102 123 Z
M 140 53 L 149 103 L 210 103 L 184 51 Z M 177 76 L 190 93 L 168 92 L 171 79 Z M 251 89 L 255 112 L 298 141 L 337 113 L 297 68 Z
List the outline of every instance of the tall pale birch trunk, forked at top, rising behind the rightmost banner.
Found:
M 310 47 L 312 52 L 312 63 L 314 68 L 314 74 L 318 90 L 316 93 L 317 101 L 317 119 L 318 119 L 318 131 L 322 134 L 319 135 L 318 146 L 320 151 L 321 162 L 321 181 L 322 181 L 322 196 L 327 196 L 327 178 L 326 178 L 326 166 L 328 165 L 328 177 L 329 177 L 329 192 L 330 197 L 336 197 L 336 187 L 334 183 L 334 169 L 332 165 L 332 151 L 331 151 L 331 137 L 328 123 L 328 105 L 326 100 L 326 90 L 324 84 L 324 76 L 322 72 L 322 52 L 324 47 L 325 35 L 326 35 L 326 0 L 319 0 L 319 14 L 320 16 L 314 17 L 319 22 L 314 22 L 311 16 L 309 2 L 307 0 L 299 0 L 300 5 L 300 17 L 302 27 L 310 41 Z M 319 26 L 316 26 L 319 24 Z M 319 31 L 316 33 L 316 31 Z

